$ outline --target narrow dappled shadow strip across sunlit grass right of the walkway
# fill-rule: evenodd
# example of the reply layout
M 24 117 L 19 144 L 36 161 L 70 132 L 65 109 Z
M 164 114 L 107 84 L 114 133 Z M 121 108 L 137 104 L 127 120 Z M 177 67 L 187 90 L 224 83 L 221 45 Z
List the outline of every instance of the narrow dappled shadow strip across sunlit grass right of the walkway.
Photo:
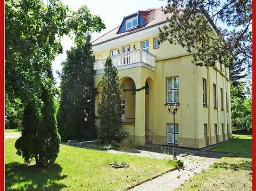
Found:
M 215 162 L 212 165 L 212 168 L 225 168 L 228 170 L 251 170 L 252 169 L 252 162 L 248 160 L 239 160 L 239 162 L 232 163 L 232 162 Z

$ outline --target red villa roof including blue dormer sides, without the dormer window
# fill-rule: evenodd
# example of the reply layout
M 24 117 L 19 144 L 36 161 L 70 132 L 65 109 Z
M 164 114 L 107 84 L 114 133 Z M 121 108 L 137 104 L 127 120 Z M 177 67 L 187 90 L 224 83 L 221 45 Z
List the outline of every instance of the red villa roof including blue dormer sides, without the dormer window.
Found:
M 147 9 L 146 11 L 139 11 L 139 26 L 136 28 L 133 28 L 129 31 L 121 31 L 120 27 L 124 25 L 124 21 L 126 19 L 131 18 L 132 16 L 136 15 L 137 13 L 134 13 L 132 15 L 124 17 L 123 22 L 120 26 L 116 27 L 115 29 L 107 32 L 106 34 L 102 35 L 101 37 L 97 38 L 92 42 L 92 45 L 98 45 L 102 44 L 104 42 L 123 37 L 125 35 L 129 35 L 130 33 L 134 33 L 137 31 L 141 31 L 144 29 L 148 29 L 149 27 L 156 26 L 158 24 L 166 23 L 166 17 L 170 16 L 170 13 L 165 14 L 165 12 L 162 10 L 162 8 L 153 8 L 153 9 Z M 143 22 L 144 21 L 144 22 Z M 141 22 L 141 24 L 140 24 Z M 120 29 L 120 30 L 119 30 Z

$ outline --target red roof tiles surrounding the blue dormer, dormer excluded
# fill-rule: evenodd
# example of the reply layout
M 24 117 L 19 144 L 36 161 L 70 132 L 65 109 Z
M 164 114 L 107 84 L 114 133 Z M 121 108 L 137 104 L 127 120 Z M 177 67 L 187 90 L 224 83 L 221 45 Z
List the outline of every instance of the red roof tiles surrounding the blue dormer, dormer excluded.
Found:
M 139 12 L 142 15 L 143 19 L 146 21 L 146 23 L 147 23 L 146 25 L 144 25 L 142 27 L 137 27 L 130 31 L 126 31 L 126 32 L 117 34 L 117 31 L 119 30 L 119 27 L 120 27 L 120 26 L 118 26 L 115 29 L 107 32 L 106 34 L 104 34 L 101 37 L 94 40 L 92 42 L 92 45 L 101 44 L 101 43 L 104 43 L 106 41 L 109 41 L 109 40 L 112 40 L 115 38 L 123 37 L 125 35 L 128 35 L 131 32 L 133 33 L 136 31 L 141 31 L 144 28 L 147 29 L 147 28 L 155 26 L 157 24 L 164 23 L 166 21 L 166 17 L 168 17 L 170 15 L 169 13 L 165 14 L 165 12 L 162 11 L 161 8 L 147 9 L 146 11 L 139 11 Z

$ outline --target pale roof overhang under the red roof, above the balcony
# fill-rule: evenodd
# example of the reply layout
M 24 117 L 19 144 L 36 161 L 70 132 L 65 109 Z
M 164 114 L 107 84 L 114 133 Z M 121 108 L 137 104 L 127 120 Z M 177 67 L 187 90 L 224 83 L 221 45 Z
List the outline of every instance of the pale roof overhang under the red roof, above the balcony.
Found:
M 94 53 L 98 53 L 110 47 L 116 47 L 116 46 L 127 44 L 131 42 L 131 39 L 134 42 L 137 40 L 141 40 L 143 38 L 152 37 L 154 35 L 157 35 L 159 33 L 159 27 L 163 27 L 165 24 L 166 24 L 166 21 L 163 21 L 161 23 L 157 23 L 149 27 L 146 26 L 136 31 L 132 31 L 127 34 L 120 35 L 119 37 L 116 37 L 116 38 L 108 39 L 101 43 L 92 45 L 92 50 Z

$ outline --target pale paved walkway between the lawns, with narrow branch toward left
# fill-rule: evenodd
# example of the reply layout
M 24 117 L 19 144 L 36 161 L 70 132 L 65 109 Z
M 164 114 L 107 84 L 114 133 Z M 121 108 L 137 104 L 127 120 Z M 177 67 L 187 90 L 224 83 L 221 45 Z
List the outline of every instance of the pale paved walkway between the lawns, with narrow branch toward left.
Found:
M 179 188 L 182 183 L 185 183 L 191 176 L 196 173 L 200 173 L 212 165 L 218 158 L 221 158 L 225 153 L 211 153 L 204 151 L 190 151 L 179 150 L 177 159 L 183 160 L 185 168 L 184 170 L 174 170 L 166 173 L 163 176 L 142 183 L 131 191 L 173 191 Z M 171 154 L 163 154 L 145 150 L 133 150 L 130 152 L 108 151 L 110 153 L 127 153 L 140 157 L 149 157 L 156 159 L 170 159 L 173 158 Z M 212 154 L 212 157 L 210 157 Z M 206 156 L 205 156 L 206 155 Z

